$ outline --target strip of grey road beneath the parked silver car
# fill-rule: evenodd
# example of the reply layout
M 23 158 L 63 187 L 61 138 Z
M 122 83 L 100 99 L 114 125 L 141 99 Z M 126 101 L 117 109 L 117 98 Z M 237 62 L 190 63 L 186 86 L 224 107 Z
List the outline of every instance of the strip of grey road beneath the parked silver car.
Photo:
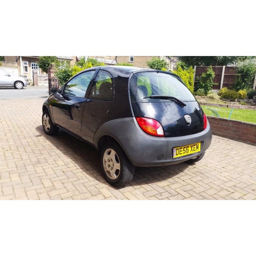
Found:
M 48 96 L 47 87 L 24 87 L 22 90 L 15 88 L 0 88 L 1 99 L 35 99 Z

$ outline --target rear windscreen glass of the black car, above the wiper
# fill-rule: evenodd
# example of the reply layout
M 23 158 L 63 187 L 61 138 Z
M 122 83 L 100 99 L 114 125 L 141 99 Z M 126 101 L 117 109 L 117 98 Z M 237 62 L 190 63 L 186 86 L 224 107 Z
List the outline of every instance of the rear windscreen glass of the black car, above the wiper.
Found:
M 164 99 L 148 99 L 152 95 L 172 96 L 182 101 L 194 101 L 195 98 L 179 78 L 166 73 L 140 72 L 132 76 L 130 81 L 132 102 L 168 101 Z

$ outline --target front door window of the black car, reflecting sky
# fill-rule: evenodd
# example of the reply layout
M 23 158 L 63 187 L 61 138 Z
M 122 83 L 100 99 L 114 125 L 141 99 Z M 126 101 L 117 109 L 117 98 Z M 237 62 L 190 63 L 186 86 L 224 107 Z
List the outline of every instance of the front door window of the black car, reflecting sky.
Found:
M 65 86 L 63 93 L 70 96 L 83 98 L 94 73 L 95 70 L 92 70 L 74 77 Z

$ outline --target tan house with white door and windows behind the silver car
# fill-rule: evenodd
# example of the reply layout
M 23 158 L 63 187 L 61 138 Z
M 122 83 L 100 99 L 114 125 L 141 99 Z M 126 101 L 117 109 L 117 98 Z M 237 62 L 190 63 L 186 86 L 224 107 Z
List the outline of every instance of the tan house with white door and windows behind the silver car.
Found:
M 56 56 L 56 57 L 61 64 L 63 63 L 69 63 L 70 65 L 76 64 L 76 56 Z M 16 69 L 17 69 L 15 73 L 18 73 L 19 76 L 25 77 L 27 80 L 32 80 L 33 69 L 37 69 L 38 74 L 46 75 L 38 67 L 38 64 L 37 64 L 38 58 L 39 56 L 4 56 L 4 62 L 6 62 L 6 64 L 7 62 L 17 63 L 16 65 L 14 65 L 16 66 Z M 3 65 L 2 68 L 4 68 L 4 66 L 5 65 Z

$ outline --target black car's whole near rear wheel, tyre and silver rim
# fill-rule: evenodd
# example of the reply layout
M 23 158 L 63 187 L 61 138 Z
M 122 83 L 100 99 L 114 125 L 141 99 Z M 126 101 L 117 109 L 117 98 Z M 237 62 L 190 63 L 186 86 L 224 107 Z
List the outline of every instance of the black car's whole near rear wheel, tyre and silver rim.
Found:
M 114 187 L 124 186 L 134 176 L 135 166 L 125 155 L 123 149 L 114 142 L 106 143 L 103 146 L 100 162 L 106 180 Z

